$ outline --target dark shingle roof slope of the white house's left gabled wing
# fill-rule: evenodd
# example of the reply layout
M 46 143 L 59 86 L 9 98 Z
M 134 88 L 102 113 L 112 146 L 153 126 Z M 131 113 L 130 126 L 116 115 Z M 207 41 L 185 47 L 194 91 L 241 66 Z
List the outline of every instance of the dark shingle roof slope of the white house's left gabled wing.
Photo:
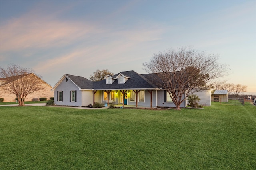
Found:
M 87 78 L 65 74 L 72 82 L 81 89 L 93 89 L 93 82 Z

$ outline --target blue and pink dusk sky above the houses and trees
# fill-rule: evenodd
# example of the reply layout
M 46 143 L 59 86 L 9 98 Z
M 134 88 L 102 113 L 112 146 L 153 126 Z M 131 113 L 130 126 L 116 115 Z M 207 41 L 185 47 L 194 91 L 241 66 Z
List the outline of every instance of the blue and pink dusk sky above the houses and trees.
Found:
M 134 70 L 154 53 L 192 46 L 228 65 L 227 83 L 256 95 L 256 1 L 0 0 L 0 66 L 64 74 Z

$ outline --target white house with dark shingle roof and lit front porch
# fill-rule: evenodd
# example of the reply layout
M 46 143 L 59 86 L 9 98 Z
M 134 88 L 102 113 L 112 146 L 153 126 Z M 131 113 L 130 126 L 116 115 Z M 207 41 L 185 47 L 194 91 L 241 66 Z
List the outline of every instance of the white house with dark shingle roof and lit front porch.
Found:
M 84 77 L 64 74 L 52 91 L 56 105 L 87 106 L 99 102 L 123 106 L 175 107 L 168 92 L 150 81 L 151 75 L 124 71 L 92 82 Z M 210 100 L 210 93 L 203 95 L 208 95 Z M 184 100 L 180 107 L 186 105 Z M 210 106 L 210 102 L 206 102 L 206 106 Z

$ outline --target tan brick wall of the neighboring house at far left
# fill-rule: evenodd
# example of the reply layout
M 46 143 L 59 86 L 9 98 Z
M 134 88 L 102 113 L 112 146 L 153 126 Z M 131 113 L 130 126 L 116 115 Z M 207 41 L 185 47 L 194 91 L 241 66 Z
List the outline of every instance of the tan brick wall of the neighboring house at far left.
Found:
M 54 92 L 51 91 L 52 86 L 48 85 L 44 81 L 42 81 L 42 86 L 44 86 L 44 90 L 40 90 L 37 92 L 33 92 L 29 94 L 25 101 L 32 101 L 34 98 L 47 98 L 47 100 L 50 99 L 50 97 L 53 97 Z M 4 102 L 15 102 L 16 95 L 5 91 L 2 87 L 0 87 L 0 98 L 4 98 Z

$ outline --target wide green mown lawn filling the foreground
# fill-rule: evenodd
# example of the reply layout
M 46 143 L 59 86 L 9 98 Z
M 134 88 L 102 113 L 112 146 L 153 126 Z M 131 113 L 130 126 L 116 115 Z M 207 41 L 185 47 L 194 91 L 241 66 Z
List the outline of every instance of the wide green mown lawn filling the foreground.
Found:
M 256 169 L 256 107 L 0 107 L 0 169 Z

